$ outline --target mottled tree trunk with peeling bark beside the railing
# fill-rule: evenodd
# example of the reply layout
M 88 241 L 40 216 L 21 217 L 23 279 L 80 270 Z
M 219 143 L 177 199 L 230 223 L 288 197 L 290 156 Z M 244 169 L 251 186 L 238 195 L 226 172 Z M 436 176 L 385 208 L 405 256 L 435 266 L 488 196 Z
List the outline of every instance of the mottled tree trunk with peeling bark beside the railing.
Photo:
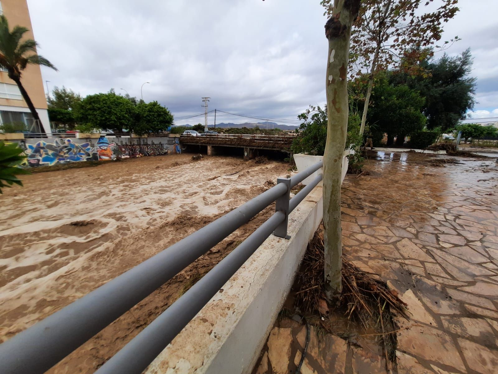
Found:
M 360 0 L 335 0 L 325 24 L 329 40 L 327 61 L 327 144 L 323 158 L 323 224 L 325 237 L 325 289 L 329 300 L 342 290 L 341 171 L 348 130 L 347 69 L 351 26 Z

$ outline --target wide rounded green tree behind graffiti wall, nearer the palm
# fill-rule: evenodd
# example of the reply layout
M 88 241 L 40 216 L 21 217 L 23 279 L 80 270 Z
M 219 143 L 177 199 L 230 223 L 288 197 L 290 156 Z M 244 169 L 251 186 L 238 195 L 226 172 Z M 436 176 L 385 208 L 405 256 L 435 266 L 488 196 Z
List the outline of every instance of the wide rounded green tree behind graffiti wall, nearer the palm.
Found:
M 133 104 L 114 92 L 89 95 L 76 111 L 78 129 L 84 132 L 113 130 L 122 133 L 132 128 L 137 111 Z

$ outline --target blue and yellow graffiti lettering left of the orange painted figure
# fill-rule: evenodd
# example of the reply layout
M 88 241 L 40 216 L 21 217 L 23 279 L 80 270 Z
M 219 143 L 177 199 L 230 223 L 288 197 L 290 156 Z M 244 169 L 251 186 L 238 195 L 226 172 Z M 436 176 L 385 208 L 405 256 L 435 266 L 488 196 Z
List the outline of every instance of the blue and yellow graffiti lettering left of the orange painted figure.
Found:
M 26 145 L 29 166 L 50 166 L 77 161 L 97 161 L 99 155 L 90 143 L 77 144 L 71 139 L 56 139 L 53 144 L 39 141 Z

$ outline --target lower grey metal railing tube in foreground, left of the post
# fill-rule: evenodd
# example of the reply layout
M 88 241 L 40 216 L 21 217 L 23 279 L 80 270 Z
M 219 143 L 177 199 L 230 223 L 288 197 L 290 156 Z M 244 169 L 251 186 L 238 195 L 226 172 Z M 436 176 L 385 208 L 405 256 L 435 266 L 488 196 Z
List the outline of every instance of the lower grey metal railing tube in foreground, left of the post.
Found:
M 95 374 L 140 374 L 285 220 L 275 212 Z

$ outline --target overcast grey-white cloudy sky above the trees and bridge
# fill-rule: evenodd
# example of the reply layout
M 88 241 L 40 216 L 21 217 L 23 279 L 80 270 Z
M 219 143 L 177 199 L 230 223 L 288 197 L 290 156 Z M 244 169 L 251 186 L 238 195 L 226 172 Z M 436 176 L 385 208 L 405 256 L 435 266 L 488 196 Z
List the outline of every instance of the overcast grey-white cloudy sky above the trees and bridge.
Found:
M 436 0 L 437 1 L 437 0 Z M 295 120 L 325 102 L 327 40 L 319 0 L 28 0 L 49 89 L 115 88 L 157 100 L 175 117 L 209 109 Z M 498 117 L 498 1 L 460 0 L 447 52 L 471 47 L 474 117 Z M 210 116 L 209 123 L 213 122 Z M 177 124 L 202 122 L 198 117 Z M 245 122 L 218 113 L 217 122 Z M 252 122 L 252 120 L 248 120 Z

